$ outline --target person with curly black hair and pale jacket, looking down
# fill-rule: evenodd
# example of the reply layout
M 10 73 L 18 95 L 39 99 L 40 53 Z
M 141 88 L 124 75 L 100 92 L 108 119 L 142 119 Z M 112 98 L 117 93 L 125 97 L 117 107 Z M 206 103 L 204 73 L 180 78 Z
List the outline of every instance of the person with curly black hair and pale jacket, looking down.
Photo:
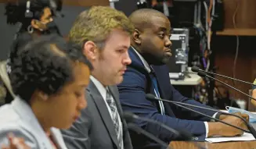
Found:
M 67 148 L 59 129 L 69 128 L 86 107 L 92 69 L 70 48 L 62 37 L 39 37 L 12 59 L 16 98 L 0 108 L 0 144 L 8 145 L 13 133 L 33 149 Z

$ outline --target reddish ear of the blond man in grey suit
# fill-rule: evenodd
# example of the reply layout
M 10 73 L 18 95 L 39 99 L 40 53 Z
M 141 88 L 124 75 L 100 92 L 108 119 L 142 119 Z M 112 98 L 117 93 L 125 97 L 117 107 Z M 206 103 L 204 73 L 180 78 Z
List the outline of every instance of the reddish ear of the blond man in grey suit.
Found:
M 85 42 L 83 53 L 87 57 L 87 59 L 95 60 L 98 54 L 96 44 L 93 41 Z

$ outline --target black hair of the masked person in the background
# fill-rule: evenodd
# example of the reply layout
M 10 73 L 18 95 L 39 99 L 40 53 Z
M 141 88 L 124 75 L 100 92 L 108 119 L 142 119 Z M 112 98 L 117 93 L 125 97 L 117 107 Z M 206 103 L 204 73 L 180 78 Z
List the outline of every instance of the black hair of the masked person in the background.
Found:
M 28 0 L 8 1 L 5 4 L 6 23 L 16 24 L 21 23 L 20 30 L 27 30 L 27 27 L 31 24 L 31 20 L 39 20 L 43 14 L 43 9 L 49 7 L 52 10 L 52 14 L 56 15 L 57 11 L 62 9 L 62 0 L 31 0 L 30 12 L 31 16 L 26 16 Z

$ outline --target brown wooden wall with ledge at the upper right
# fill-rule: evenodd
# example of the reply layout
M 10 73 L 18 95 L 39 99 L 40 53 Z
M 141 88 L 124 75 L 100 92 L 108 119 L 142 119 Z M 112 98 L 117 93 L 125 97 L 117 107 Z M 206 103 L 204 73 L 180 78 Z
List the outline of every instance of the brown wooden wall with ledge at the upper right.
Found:
M 233 76 L 233 62 L 236 54 L 236 35 L 239 37 L 239 54 L 236 61 L 236 78 L 253 82 L 256 78 L 256 1 L 255 0 L 223 0 L 225 8 L 225 30 L 213 40 L 215 51 L 215 66 L 218 66 L 217 73 Z M 233 15 L 236 11 L 236 29 L 233 25 Z M 218 33 L 220 34 L 220 33 Z M 233 85 L 231 80 L 217 77 Z M 218 83 L 217 83 L 218 84 Z M 235 87 L 248 93 L 251 85 L 235 83 Z M 248 98 L 235 90 L 229 89 L 231 96 L 247 100 Z

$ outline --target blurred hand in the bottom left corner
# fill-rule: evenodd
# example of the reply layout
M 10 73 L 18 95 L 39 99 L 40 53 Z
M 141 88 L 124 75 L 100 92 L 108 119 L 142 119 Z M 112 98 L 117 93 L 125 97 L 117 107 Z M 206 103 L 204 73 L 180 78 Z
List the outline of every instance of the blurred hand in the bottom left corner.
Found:
M 2 149 L 31 149 L 25 144 L 23 138 L 15 137 L 13 134 L 8 135 L 9 145 L 2 145 Z

